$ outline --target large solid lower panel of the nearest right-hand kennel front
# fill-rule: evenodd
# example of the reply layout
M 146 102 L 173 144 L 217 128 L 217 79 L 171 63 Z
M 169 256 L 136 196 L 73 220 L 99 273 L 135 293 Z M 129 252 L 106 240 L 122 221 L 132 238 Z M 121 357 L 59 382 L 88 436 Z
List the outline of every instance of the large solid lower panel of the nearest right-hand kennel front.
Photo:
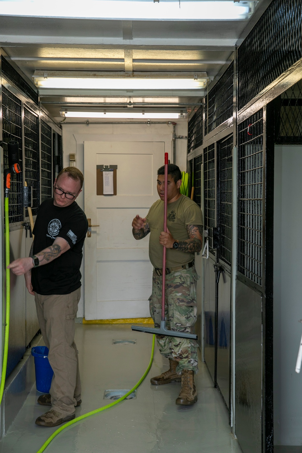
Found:
M 262 297 L 236 281 L 235 433 L 244 453 L 262 451 Z

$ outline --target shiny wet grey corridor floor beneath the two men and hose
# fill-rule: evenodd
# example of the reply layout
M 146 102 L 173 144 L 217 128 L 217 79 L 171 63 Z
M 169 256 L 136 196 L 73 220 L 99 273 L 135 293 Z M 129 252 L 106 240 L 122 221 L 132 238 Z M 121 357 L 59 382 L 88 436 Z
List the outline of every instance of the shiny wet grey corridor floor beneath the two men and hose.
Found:
M 113 339 L 136 339 L 135 345 L 113 345 Z M 82 404 L 76 417 L 108 404 L 105 390 L 131 389 L 148 366 L 152 335 L 132 332 L 129 325 L 76 325 L 82 380 Z M 228 413 L 213 388 L 204 363 L 196 376 L 198 401 L 175 405 L 180 383 L 152 386 L 150 377 L 167 368 L 155 346 L 153 365 L 137 398 L 125 400 L 64 430 L 46 453 L 242 453 L 228 424 Z M 35 453 L 56 428 L 35 425 L 46 412 L 38 405 L 35 386 L 0 442 L 1 453 Z

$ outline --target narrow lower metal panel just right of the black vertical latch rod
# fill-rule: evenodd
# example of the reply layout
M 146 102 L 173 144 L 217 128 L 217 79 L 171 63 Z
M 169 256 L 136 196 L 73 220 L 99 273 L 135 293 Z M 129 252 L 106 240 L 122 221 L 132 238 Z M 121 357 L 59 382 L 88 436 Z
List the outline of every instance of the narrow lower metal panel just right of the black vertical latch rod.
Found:
M 230 275 L 221 272 L 217 308 L 217 385 L 228 408 L 230 397 L 230 291 Z

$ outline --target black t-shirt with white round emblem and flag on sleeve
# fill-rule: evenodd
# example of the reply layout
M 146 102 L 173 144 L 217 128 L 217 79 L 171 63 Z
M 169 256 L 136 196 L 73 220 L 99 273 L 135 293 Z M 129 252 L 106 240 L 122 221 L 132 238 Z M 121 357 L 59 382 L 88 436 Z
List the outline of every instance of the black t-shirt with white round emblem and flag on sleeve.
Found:
M 52 246 L 56 237 L 65 239 L 70 249 L 50 263 L 32 269 L 31 282 L 36 293 L 70 294 L 80 288 L 87 229 L 86 215 L 77 202 L 58 207 L 53 204 L 53 198 L 49 198 L 40 205 L 33 230 L 34 254 Z

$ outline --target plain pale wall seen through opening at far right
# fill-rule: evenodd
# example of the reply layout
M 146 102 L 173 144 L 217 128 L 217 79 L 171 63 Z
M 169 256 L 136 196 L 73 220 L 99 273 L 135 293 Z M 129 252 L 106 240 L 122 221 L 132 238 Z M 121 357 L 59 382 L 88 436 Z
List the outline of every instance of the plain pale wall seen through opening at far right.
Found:
M 274 172 L 274 444 L 302 445 L 302 146 L 276 146 Z

